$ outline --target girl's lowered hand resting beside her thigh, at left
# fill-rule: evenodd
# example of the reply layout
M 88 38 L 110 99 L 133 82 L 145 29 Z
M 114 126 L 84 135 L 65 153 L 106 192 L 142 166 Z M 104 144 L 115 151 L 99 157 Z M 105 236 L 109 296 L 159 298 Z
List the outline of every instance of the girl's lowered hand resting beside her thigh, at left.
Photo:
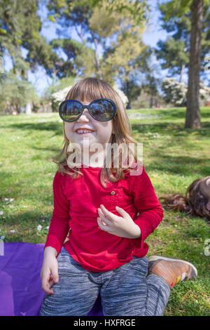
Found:
M 58 282 L 58 263 L 57 263 L 57 252 L 52 251 L 53 248 L 47 246 L 44 251 L 44 260 L 41 268 L 41 287 L 46 293 L 54 293 L 51 290 L 51 286 Z M 53 249 L 55 250 L 55 249 Z

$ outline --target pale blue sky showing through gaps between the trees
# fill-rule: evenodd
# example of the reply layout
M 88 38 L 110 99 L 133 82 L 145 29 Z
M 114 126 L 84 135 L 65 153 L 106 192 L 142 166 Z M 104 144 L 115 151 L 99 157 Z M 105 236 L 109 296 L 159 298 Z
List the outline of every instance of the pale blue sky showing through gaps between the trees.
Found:
M 146 27 L 143 41 L 148 46 L 154 47 L 160 39 L 165 40 L 167 38 L 167 32 L 161 29 L 160 12 L 157 8 L 157 0 L 150 0 L 149 3 L 151 6 L 150 24 L 148 25 L 148 27 Z M 43 37 L 45 37 L 47 41 L 57 38 L 55 23 L 46 22 L 47 11 L 44 6 L 39 8 L 38 14 L 41 15 L 41 20 L 43 22 L 43 27 L 41 29 L 41 34 L 43 35 Z M 71 38 L 78 39 L 76 32 L 73 32 Z M 22 55 L 25 56 L 26 53 L 27 51 L 22 48 Z M 160 64 L 158 64 L 155 58 L 153 58 L 152 65 L 158 65 L 160 70 Z M 8 57 L 5 57 L 5 70 L 10 70 L 11 66 L 12 64 L 10 59 Z M 162 74 L 162 76 L 164 76 L 166 73 L 166 71 L 163 72 L 162 70 L 160 70 L 159 72 Z M 47 88 L 52 82 L 52 79 L 50 79 L 50 77 L 47 77 L 47 75 L 45 74 L 45 70 L 42 67 L 38 67 L 38 70 L 35 74 L 31 73 L 31 71 L 29 70 L 28 79 L 29 81 L 31 81 L 31 84 L 33 84 L 36 88 L 38 95 L 42 95 L 44 89 Z

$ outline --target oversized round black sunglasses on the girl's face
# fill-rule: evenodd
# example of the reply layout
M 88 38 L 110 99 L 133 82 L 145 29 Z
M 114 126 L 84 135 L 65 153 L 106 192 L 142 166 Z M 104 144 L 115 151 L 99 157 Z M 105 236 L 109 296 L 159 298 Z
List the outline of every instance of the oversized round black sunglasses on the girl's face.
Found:
M 116 104 L 109 98 L 93 100 L 89 105 L 83 105 L 78 100 L 64 100 L 59 105 L 59 117 L 67 122 L 76 121 L 83 114 L 85 108 L 94 119 L 99 121 L 109 121 L 117 112 Z

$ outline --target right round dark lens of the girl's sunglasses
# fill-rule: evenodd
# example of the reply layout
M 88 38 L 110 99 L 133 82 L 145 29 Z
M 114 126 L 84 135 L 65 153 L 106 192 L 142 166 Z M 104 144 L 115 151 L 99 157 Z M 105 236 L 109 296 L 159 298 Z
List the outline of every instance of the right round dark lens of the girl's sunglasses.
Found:
M 113 117 L 115 107 L 109 100 L 96 100 L 90 105 L 90 112 L 95 119 L 108 121 Z

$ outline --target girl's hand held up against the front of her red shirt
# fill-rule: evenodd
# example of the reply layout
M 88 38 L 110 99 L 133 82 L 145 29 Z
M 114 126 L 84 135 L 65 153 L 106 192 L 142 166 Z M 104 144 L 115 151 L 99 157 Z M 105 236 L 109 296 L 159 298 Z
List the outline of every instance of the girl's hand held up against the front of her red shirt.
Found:
M 138 238 L 141 236 L 140 227 L 121 207 L 116 206 L 116 211 L 121 215 L 116 216 L 116 214 L 108 211 L 104 205 L 100 206 L 101 208 L 98 208 L 99 218 L 97 218 L 97 223 L 102 230 L 119 237 Z

